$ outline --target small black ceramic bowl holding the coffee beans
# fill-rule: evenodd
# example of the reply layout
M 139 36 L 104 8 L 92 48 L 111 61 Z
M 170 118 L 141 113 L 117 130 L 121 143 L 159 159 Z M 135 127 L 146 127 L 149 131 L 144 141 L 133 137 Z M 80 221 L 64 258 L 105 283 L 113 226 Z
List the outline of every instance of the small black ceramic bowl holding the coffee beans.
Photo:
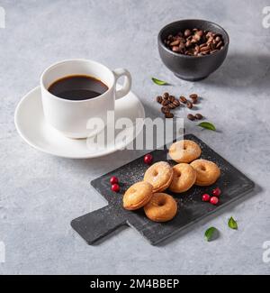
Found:
M 198 28 L 205 31 L 220 33 L 223 37 L 224 47 L 211 55 L 201 57 L 186 56 L 175 53 L 166 48 L 164 40 L 177 32 L 184 32 L 185 29 Z M 177 78 L 197 81 L 207 78 L 212 72 L 220 67 L 226 59 L 229 49 L 228 33 L 216 23 L 199 19 L 187 19 L 175 23 L 167 24 L 158 34 L 158 50 L 163 63 L 168 69 L 175 73 Z

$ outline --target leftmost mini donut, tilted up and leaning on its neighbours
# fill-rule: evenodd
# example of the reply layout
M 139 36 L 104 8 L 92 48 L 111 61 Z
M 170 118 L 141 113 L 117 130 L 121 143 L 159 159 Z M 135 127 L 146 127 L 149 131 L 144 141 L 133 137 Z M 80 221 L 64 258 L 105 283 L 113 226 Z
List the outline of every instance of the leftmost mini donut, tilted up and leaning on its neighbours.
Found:
M 145 206 L 153 195 L 153 187 L 146 181 L 140 181 L 125 192 L 123 196 L 123 207 L 133 211 Z

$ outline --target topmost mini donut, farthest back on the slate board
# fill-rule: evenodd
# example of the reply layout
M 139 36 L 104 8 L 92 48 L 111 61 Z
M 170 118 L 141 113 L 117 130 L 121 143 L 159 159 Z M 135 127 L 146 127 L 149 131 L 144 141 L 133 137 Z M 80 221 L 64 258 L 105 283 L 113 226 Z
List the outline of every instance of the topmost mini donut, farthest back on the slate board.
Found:
M 202 150 L 196 142 L 183 140 L 173 143 L 168 153 L 178 163 L 190 163 L 201 156 Z

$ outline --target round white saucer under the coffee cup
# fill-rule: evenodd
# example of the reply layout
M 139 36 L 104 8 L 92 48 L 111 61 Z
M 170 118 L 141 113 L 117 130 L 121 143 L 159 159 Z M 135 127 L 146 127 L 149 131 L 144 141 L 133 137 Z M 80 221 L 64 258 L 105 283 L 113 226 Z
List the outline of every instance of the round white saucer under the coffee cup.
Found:
M 69 139 L 46 124 L 41 104 L 40 87 L 35 87 L 26 96 L 23 96 L 17 105 L 14 119 L 18 133 L 33 148 L 58 157 L 88 159 L 124 149 L 135 139 L 136 133 L 138 135 L 142 129 L 143 124 L 136 122 L 136 119 L 140 118 L 140 122 L 145 119 L 144 107 L 138 96 L 132 92 L 115 102 L 115 119 L 121 117 L 130 118 L 133 125 L 118 131 L 118 133 L 115 132 L 116 142 L 112 139 L 112 142 L 107 142 L 104 147 L 99 147 L 94 142 L 92 147 L 89 140 Z M 117 141 L 119 134 L 125 139 Z

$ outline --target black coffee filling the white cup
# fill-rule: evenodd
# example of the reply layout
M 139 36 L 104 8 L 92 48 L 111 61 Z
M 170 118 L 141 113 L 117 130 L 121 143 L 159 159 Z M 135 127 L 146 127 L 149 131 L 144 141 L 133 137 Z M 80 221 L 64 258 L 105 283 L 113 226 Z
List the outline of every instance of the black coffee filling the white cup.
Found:
M 102 95 L 108 87 L 90 76 L 75 75 L 60 78 L 48 88 L 49 93 L 67 100 L 87 100 Z

